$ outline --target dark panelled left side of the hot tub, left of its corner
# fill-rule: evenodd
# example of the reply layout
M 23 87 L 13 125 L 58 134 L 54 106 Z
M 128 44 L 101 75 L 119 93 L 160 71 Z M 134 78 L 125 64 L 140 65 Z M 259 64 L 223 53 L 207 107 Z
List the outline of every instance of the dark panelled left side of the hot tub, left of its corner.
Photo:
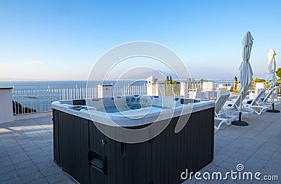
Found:
M 89 121 L 58 110 L 53 114 L 55 160 L 75 180 L 89 183 Z

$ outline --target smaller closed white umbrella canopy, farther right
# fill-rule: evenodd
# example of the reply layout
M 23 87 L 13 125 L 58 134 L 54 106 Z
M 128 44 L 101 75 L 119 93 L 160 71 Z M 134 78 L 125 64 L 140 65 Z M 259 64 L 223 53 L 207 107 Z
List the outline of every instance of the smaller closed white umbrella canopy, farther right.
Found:
M 274 87 L 277 81 L 277 78 L 275 76 L 275 70 L 276 70 L 275 55 L 276 55 L 275 51 L 273 50 L 273 48 L 271 48 L 268 53 L 269 74 L 266 77 L 266 81 L 268 81 L 270 87 Z

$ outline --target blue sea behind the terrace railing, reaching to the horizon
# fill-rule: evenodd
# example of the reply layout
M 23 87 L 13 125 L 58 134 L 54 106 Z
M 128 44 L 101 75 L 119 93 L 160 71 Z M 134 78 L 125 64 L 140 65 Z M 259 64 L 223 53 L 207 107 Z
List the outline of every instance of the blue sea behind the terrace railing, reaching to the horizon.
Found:
M 145 80 L 91 81 L 90 87 L 96 88 L 98 84 L 112 84 L 113 87 L 144 86 L 146 83 L 147 81 Z M 22 107 L 28 107 L 37 112 L 50 111 L 51 103 L 56 100 L 64 99 L 62 98 L 63 95 L 69 96 L 70 93 L 73 96 L 77 95 L 76 92 L 73 92 L 74 90 L 70 92 L 70 89 L 85 88 L 86 86 L 87 81 L 0 81 L 0 87 L 13 87 L 12 96 L 14 106 L 16 101 L 20 103 Z M 66 88 L 69 91 L 58 91 L 59 89 Z M 77 93 L 80 92 L 81 90 L 79 89 Z

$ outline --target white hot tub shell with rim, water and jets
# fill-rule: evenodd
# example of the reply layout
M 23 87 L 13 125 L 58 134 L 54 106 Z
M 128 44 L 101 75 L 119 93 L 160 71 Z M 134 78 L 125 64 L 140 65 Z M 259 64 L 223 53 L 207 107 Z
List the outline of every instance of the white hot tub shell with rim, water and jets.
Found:
M 136 126 L 214 107 L 214 101 L 181 97 L 115 96 L 61 100 L 53 102 L 52 107 L 101 124 Z

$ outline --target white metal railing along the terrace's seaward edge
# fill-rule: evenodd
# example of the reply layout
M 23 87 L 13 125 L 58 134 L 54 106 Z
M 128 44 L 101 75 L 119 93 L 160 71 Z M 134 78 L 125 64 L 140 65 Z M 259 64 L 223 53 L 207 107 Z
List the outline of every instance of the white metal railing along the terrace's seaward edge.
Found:
M 230 86 L 232 91 L 239 91 L 240 84 L 233 82 L 214 82 L 214 87 Z M 278 96 L 281 96 L 281 84 Z M 188 83 L 188 88 L 202 87 L 202 83 Z M 254 91 L 256 84 L 253 83 L 251 91 Z M 265 84 L 265 88 L 269 88 Z M 85 98 L 97 98 L 98 88 L 33 88 L 33 89 L 15 89 L 13 95 L 13 114 L 30 114 L 35 112 L 51 111 L 51 103 L 57 100 L 77 100 Z M 179 96 L 181 93 L 181 84 L 166 84 L 162 96 Z M 147 95 L 147 86 L 119 86 L 113 89 L 113 96 L 129 95 Z

